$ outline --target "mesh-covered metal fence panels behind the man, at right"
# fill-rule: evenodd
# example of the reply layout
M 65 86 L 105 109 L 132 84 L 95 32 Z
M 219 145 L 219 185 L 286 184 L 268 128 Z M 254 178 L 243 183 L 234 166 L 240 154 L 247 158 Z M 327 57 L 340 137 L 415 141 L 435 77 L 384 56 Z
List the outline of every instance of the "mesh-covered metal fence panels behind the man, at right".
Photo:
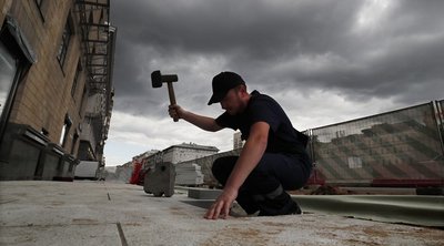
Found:
M 444 186 L 443 105 L 434 101 L 306 131 L 310 183 Z

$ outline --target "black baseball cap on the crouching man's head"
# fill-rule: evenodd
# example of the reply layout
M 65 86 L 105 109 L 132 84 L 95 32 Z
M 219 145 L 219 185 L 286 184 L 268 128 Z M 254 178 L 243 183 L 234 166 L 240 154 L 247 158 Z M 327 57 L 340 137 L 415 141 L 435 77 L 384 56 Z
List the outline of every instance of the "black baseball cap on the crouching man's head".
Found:
M 229 71 L 219 73 L 213 78 L 213 95 L 208 104 L 211 105 L 221 102 L 231 89 L 240 84 L 245 84 L 245 81 L 243 81 L 242 76 L 238 73 Z

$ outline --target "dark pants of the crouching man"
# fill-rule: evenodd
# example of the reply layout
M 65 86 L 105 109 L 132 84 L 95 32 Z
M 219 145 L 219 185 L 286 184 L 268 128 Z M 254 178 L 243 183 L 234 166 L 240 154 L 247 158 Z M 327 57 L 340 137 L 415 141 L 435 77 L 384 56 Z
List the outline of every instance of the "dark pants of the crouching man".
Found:
M 238 156 L 224 156 L 213 163 L 213 176 L 225 185 Z M 312 165 L 307 155 L 265 153 L 250 173 L 238 194 L 238 203 L 248 214 L 259 209 L 255 195 L 269 194 L 279 186 L 286 191 L 301 188 L 310 177 Z

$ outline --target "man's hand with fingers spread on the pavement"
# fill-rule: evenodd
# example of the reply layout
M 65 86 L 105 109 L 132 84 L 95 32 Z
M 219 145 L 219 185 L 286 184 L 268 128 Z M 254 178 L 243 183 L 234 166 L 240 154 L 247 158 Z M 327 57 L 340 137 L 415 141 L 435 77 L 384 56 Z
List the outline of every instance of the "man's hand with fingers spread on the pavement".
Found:
M 226 218 L 230 213 L 231 205 L 234 199 L 238 197 L 236 189 L 223 189 L 222 194 L 215 199 L 213 205 L 208 209 L 204 218 L 208 219 L 218 219 Z

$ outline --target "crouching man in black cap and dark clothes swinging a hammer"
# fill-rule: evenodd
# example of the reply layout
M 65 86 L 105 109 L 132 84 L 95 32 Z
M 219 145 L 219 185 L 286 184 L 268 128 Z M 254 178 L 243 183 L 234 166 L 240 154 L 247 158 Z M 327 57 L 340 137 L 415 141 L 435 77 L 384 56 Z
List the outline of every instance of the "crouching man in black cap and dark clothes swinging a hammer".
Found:
M 212 172 L 223 185 L 222 194 L 205 218 L 225 218 L 234 201 L 248 214 L 259 216 L 301 214 L 285 192 L 301 188 L 312 165 L 305 152 L 307 137 L 293 129 L 282 107 L 272 98 L 246 91 L 243 79 L 233 72 L 213 78 L 213 95 L 208 103 L 221 103 L 225 112 L 216 119 L 171 105 L 170 116 L 183 119 L 205 131 L 240 130 L 246 140 L 240 156 L 214 161 Z

